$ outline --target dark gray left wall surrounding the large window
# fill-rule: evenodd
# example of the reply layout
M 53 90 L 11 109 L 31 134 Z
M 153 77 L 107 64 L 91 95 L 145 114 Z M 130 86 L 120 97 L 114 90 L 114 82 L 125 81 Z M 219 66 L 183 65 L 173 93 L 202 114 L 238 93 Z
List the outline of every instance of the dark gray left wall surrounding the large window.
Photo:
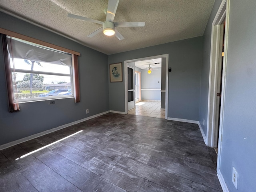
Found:
M 56 44 L 81 54 L 78 57 L 80 103 L 74 103 L 73 98 L 58 99 L 52 105 L 49 101 L 28 102 L 20 104 L 20 112 L 9 113 L 2 42 L 0 42 L 0 145 L 109 110 L 108 56 L 106 54 L 2 12 L 0 12 L 0 18 L 0 28 Z M 95 78 L 95 69 L 100 78 Z M 86 114 L 86 109 L 89 109 L 89 114 Z

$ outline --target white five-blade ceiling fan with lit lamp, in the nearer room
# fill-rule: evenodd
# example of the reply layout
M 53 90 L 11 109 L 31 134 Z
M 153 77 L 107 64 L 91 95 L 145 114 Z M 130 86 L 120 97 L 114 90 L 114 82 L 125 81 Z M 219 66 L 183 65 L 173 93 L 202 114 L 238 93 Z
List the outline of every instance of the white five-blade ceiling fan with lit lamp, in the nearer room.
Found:
M 116 14 L 118 3 L 119 3 L 119 0 L 108 0 L 108 8 L 104 10 L 106 14 L 105 22 L 74 15 L 74 14 L 68 14 L 68 17 L 90 21 L 90 22 L 94 22 L 102 25 L 102 27 L 98 28 L 97 30 L 89 34 L 87 37 L 93 37 L 94 35 L 103 31 L 103 33 L 107 36 L 112 36 L 115 34 L 119 40 L 123 40 L 124 37 L 120 34 L 120 32 L 116 29 L 116 27 L 144 27 L 145 22 L 114 22 L 114 17 Z

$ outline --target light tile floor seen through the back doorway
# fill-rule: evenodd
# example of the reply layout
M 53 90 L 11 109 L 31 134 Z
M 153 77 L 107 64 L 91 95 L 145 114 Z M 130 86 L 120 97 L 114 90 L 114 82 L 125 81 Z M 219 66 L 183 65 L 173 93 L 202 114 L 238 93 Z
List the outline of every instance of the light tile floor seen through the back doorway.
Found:
M 135 104 L 135 108 L 128 114 L 141 115 L 156 118 L 165 118 L 165 110 L 161 110 L 161 102 L 141 101 Z

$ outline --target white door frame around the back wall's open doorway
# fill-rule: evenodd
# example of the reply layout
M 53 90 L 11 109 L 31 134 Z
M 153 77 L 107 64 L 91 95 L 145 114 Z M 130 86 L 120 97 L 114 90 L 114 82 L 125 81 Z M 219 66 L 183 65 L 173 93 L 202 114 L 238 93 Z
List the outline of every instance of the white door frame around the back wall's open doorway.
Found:
M 127 76 L 127 66 L 130 62 L 136 62 L 141 60 L 150 60 L 150 59 L 156 59 L 156 58 L 166 58 L 166 76 L 165 76 L 165 119 L 168 118 L 168 68 L 169 68 L 169 54 L 162 54 L 162 55 L 156 55 L 156 56 L 150 56 L 150 57 L 144 57 L 144 58 L 137 58 L 132 60 L 125 60 L 124 61 L 124 102 L 125 102 L 125 114 L 128 114 L 128 76 Z

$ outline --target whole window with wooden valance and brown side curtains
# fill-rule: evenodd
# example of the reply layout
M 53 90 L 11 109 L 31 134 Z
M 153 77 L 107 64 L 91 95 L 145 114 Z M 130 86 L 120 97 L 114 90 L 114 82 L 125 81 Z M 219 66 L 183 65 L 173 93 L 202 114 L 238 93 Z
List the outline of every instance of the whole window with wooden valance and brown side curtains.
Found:
M 18 102 L 67 97 L 80 102 L 79 52 L 3 28 L 0 36 L 10 112 L 20 111 Z

